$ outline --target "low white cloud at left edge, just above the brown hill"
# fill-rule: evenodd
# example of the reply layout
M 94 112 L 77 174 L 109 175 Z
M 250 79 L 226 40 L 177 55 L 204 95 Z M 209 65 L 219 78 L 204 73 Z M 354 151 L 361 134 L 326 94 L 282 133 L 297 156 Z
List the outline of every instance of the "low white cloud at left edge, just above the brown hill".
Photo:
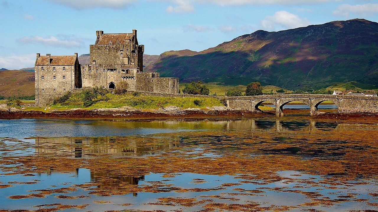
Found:
M 8 57 L 0 56 L 0 68 L 12 69 L 22 69 L 33 67 L 36 61 L 35 54 L 28 55 L 12 55 Z

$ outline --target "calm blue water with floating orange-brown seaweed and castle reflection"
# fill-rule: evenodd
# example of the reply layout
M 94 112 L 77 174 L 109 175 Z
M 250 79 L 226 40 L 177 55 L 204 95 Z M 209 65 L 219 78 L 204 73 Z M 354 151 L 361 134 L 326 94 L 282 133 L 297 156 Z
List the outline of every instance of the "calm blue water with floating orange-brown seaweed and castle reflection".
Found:
M 378 121 L 0 120 L 0 209 L 378 206 Z

